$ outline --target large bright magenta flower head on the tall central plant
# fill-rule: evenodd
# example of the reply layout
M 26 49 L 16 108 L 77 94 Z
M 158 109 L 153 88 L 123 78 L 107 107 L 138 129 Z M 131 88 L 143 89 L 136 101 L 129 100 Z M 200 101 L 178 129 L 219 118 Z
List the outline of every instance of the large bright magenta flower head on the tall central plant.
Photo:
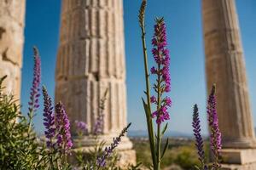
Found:
M 152 54 L 154 56 L 154 61 L 157 66 L 153 66 L 150 71 L 151 74 L 157 75 L 160 79 L 158 83 L 160 83 L 160 92 L 158 86 L 154 84 L 154 91 L 160 93 L 160 95 L 164 93 L 168 93 L 171 91 L 171 76 L 170 76 L 170 54 L 169 50 L 167 49 L 167 42 L 166 42 L 166 24 L 163 18 L 156 19 L 156 24 L 154 26 L 154 36 L 152 38 Z M 150 98 L 151 103 L 157 105 L 157 99 L 152 96 Z M 161 101 L 161 107 L 158 111 L 154 111 L 152 113 L 153 117 L 157 117 L 156 122 L 157 124 L 161 124 L 166 120 L 170 119 L 169 112 L 167 108 L 172 105 L 172 100 L 168 97 Z

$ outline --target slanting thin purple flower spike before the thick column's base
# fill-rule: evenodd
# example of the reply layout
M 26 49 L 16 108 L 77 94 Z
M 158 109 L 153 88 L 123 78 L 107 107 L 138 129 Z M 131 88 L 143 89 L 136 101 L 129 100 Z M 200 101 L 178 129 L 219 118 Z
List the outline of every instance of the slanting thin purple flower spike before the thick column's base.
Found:
M 113 153 L 113 150 L 119 145 L 121 138 L 125 136 L 125 133 L 127 133 L 128 128 L 131 126 L 131 122 L 125 127 L 122 132 L 119 134 L 119 137 L 113 138 L 113 143 L 110 144 L 110 146 L 106 147 L 103 155 L 99 156 L 97 159 L 97 165 L 98 167 L 105 167 L 106 166 L 106 160 L 111 154 Z

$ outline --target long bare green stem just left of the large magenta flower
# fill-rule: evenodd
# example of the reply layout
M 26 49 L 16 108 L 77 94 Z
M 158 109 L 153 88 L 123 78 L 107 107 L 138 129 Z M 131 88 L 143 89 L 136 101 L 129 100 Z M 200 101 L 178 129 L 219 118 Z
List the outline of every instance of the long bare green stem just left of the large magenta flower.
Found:
M 145 38 L 145 25 L 141 26 L 142 29 L 142 40 L 143 40 L 143 56 L 144 56 L 144 70 L 145 70 L 145 79 L 146 79 L 146 94 L 147 94 L 147 106 L 148 106 L 148 116 L 147 116 L 147 125 L 148 125 L 148 138 L 151 150 L 151 156 L 153 161 L 154 169 L 156 167 L 156 158 L 155 158 L 155 145 L 154 145 L 154 132 L 153 132 L 153 124 L 151 118 L 151 105 L 150 105 L 150 85 L 149 85 L 149 75 L 148 75 L 148 54 L 146 48 L 146 38 Z

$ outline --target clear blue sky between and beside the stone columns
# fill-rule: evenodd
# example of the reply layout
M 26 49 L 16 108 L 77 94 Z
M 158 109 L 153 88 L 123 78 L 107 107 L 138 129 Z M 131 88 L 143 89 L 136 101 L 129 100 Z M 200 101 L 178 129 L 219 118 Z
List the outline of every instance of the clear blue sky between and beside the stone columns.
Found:
M 128 121 L 131 129 L 145 129 L 141 96 L 144 89 L 143 56 L 140 30 L 137 23 L 139 0 L 124 0 L 125 55 L 127 71 Z M 256 125 L 256 1 L 236 0 L 241 37 L 247 64 L 247 79 Z M 39 48 L 42 57 L 43 83 L 54 97 L 55 58 L 59 40 L 61 0 L 26 0 L 26 29 L 22 69 L 21 104 L 27 112 L 29 88 L 32 82 L 32 46 Z M 203 133 L 206 126 L 206 82 L 201 24 L 200 0 L 148 0 L 148 48 L 153 33 L 154 17 L 166 19 L 167 38 L 171 50 L 173 101 L 170 130 L 191 133 L 192 105 L 201 111 Z M 153 65 L 150 62 L 150 65 Z M 253 105 L 254 104 L 254 105 Z M 42 112 L 35 118 L 38 132 L 44 131 Z

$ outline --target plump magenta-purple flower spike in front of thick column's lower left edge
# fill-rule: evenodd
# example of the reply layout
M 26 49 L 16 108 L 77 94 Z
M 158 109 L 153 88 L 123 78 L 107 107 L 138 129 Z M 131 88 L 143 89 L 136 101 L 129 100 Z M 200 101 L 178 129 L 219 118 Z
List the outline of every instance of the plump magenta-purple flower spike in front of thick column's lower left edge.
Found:
M 64 109 L 64 105 L 61 102 L 55 105 L 55 125 L 57 144 L 61 147 L 61 152 L 66 154 L 73 146 L 73 142 L 70 134 L 70 122 L 67 117 L 67 112 Z

